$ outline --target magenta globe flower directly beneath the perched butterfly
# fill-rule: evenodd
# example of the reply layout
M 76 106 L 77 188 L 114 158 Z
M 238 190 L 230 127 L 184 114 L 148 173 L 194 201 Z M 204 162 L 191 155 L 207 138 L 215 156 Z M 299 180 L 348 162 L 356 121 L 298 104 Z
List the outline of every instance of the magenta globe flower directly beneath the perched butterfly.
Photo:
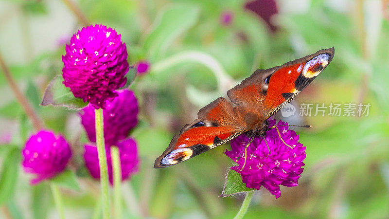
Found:
M 270 120 L 269 127 L 274 126 L 275 123 L 276 120 Z M 280 121 L 278 125 L 287 125 L 287 123 Z M 244 164 L 245 146 L 250 140 L 244 134 L 231 142 L 232 150 L 224 152 L 233 161 L 240 156 L 238 165 L 232 166 L 231 169 L 241 174 L 242 181 L 248 188 L 260 189 L 264 186 L 276 198 L 281 196 L 280 185 L 288 187 L 298 185 L 306 157 L 305 147 L 299 143 L 299 135 L 293 130 L 288 130 L 287 126 L 278 126 L 278 128 L 285 143 L 293 148 L 283 144 L 276 128 L 272 128 L 265 136 L 271 151 L 270 155 L 264 139 L 255 137 L 248 146 L 247 160 Z

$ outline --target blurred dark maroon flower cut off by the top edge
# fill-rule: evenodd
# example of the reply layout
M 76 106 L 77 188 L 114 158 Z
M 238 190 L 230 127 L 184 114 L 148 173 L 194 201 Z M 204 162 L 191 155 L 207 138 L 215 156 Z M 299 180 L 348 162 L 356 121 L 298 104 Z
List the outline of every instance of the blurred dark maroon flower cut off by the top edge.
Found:
M 248 1 L 245 8 L 264 19 L 272 32 L 277 30 L 277 27 L 270 20 L 273 15 L 278 14 L 277 3 L 275 0 Z

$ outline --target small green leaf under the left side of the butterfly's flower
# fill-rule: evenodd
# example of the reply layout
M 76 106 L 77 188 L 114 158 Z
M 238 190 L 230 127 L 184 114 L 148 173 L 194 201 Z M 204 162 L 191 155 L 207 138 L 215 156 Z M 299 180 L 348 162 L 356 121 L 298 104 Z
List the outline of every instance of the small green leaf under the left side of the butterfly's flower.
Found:
M 242 182 L 242 177 L 235 170 L 229 170 L 227 173 L 226 182 L 224 183 L 222 197 L 227 197 L 238 192 L 247 192 L 254 190 L 246 187 L 246 184 Z

